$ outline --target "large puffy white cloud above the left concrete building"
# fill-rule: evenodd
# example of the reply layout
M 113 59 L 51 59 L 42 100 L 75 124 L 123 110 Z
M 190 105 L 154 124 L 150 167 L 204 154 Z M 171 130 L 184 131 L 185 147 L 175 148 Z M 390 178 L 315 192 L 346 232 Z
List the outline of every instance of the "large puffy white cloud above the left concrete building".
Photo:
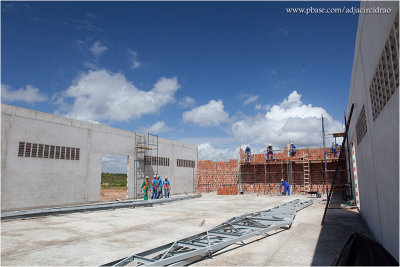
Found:
M 163 77 L 153 89 L 143 91 L 121 73 L 89 70 L 62 92 L 57 102 L 64 104 L 56 113 L 85 121 L 126 121 L 157 113 L 161 107 L 175 101 L 179 88 L 176 77 Z

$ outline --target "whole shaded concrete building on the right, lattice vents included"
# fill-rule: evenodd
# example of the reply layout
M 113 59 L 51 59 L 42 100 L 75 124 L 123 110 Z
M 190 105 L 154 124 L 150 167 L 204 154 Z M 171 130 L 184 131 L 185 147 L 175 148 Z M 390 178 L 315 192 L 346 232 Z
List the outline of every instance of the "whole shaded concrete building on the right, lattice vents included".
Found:
M 361 2 L 347 116 L 352 180 L 376 240 L 399 260 L 399 3 Z

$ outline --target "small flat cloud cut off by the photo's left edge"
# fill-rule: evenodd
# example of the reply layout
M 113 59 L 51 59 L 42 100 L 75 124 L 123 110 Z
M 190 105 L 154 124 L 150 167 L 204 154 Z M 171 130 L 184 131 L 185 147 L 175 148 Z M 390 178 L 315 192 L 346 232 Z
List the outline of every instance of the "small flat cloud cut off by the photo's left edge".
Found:
M 41 94 L 38 88 L 29 84 L 25 88 L 21 87 L 18 90 L 11 90 L 9 85 L 1 84 L 1 97 L 10 102 L 24 101 L 34 103 L 47 100 L 47 96 Z

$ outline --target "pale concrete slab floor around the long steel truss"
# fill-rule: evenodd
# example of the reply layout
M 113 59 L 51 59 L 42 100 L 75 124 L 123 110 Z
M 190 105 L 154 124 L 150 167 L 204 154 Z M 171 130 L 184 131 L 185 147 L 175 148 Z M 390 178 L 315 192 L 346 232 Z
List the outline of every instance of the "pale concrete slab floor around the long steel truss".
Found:
M 98 266 L 297 198 L 309 199 L 203 194 L 154 207 L 3 221 L 1 264 Z M 296 215 L 291 229 L 246 240 L 244 246 L 233 245 L 194 265 L 329 265 L 352 232 L 370 236 L 354 210 L 328 210 L 321 227 L 325 202 L 314 200 Z

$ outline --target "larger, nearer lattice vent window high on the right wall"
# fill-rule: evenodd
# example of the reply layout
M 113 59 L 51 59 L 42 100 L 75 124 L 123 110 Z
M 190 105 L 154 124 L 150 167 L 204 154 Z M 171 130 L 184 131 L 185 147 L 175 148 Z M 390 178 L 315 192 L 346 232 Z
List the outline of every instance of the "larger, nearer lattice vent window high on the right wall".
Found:
M 382 50 L 374 77 L 369 87 L 372 117 L 375 120 L 394 92 L 399 88 L 399 15 Z M 357 141 L 358 142 L 358 141 Z

